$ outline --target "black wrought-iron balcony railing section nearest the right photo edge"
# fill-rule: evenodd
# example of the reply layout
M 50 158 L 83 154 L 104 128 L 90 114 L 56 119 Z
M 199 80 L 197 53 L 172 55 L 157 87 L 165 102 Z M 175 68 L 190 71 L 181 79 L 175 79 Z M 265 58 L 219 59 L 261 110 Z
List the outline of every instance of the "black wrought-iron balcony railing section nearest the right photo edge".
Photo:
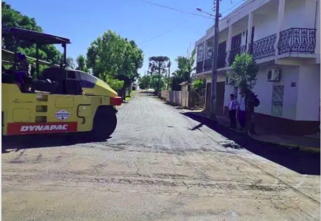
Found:
M 316 47 L 316 29 L 290 28 L 280 32 L 279 54 L 286 52 L 314 53 Z

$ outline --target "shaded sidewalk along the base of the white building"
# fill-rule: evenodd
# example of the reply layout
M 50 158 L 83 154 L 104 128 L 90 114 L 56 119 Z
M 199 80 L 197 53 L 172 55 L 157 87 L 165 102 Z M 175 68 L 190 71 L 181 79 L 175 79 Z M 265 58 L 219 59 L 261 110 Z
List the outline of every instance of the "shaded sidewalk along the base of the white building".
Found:
M 184 112 L 188 112 L 193 115 L 208 118 L 210 120 L 210 118 L 208 117 L 208 113 L 204 112 L 203 110 L 195 110 L 195 111 L 184 110 Z M 218 115 L 216 116 L 216 119 L 220 125 L 223 125 L 225 127 L 230 126 L 230 120 L 226 116 Z M 236 130 L 230 129 L 230 130 L 233 130 L 236 133 L 243 133 L 238 129 Z M 306 136 L 288 136 L 288 135 L 279 135 L 272 132 L 266 132 L 260 128 L 256 128 L 256 133 L 257 134 L 255 135 L 251 135 L 251 137 L 253 139 L 256 139 L 262 142 L 278 144 L 287 148 L 298 149 L 300 151 L 320 153 L 320 134 L 312 134 L 312 135 L 306 135 Z

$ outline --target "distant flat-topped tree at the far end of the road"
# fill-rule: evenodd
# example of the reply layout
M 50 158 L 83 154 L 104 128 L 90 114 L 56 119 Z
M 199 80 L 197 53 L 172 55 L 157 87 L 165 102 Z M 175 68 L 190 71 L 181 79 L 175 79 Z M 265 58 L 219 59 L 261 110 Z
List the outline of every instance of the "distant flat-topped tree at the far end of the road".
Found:
M 170 58 L 167 56 L 152 56 L 148 58 L 148 61 L 148 74 L 153 75 L 151 82 L 153 83 L 155 91 L 158 92 L 164 85 L 162 78 L 163 75 L 167 73 L 167 62 L 170 61 Z M 155 78 L 158 79 L 157 83 L 155 82 Z

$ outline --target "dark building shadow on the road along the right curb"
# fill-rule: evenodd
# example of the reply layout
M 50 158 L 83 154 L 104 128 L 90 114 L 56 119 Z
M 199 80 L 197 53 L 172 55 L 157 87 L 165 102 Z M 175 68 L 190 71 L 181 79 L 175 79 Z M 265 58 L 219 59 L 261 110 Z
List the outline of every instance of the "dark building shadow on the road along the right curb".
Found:
M 181 114 L 200 123 L 193 128 L 194 130 L 205 125 L 229 140 L 234 141 L 221 144 L 223 147 L 247 149 L 256 155 L 264 157 L 265 159 L 273 161 L 299 174 L 320 175 L 320 154 L 290 150 L 276 144 L 254 140 L 245 134 L 236 133 L 216 122 L 209 121 L 190 112 Z M 191 131 L 194 131 L 193 129 L 191 129 Z

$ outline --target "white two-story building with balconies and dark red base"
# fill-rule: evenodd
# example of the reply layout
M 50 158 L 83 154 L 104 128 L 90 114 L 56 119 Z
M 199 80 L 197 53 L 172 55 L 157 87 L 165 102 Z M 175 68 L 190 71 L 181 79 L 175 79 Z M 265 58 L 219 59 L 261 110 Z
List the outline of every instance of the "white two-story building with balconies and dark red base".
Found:
M 255 124 L 278 133 L 315 133 L 320 125 L 320 0 L 248 0 L 219 21 L 217 112 L 238 88 L 226 79 L 236 54 L 252 54 Z M 196 42 L 196 77 L 207 80 L 210 107 L 214 27 Z M 240 96 L 238 96 L 240 97 Z

